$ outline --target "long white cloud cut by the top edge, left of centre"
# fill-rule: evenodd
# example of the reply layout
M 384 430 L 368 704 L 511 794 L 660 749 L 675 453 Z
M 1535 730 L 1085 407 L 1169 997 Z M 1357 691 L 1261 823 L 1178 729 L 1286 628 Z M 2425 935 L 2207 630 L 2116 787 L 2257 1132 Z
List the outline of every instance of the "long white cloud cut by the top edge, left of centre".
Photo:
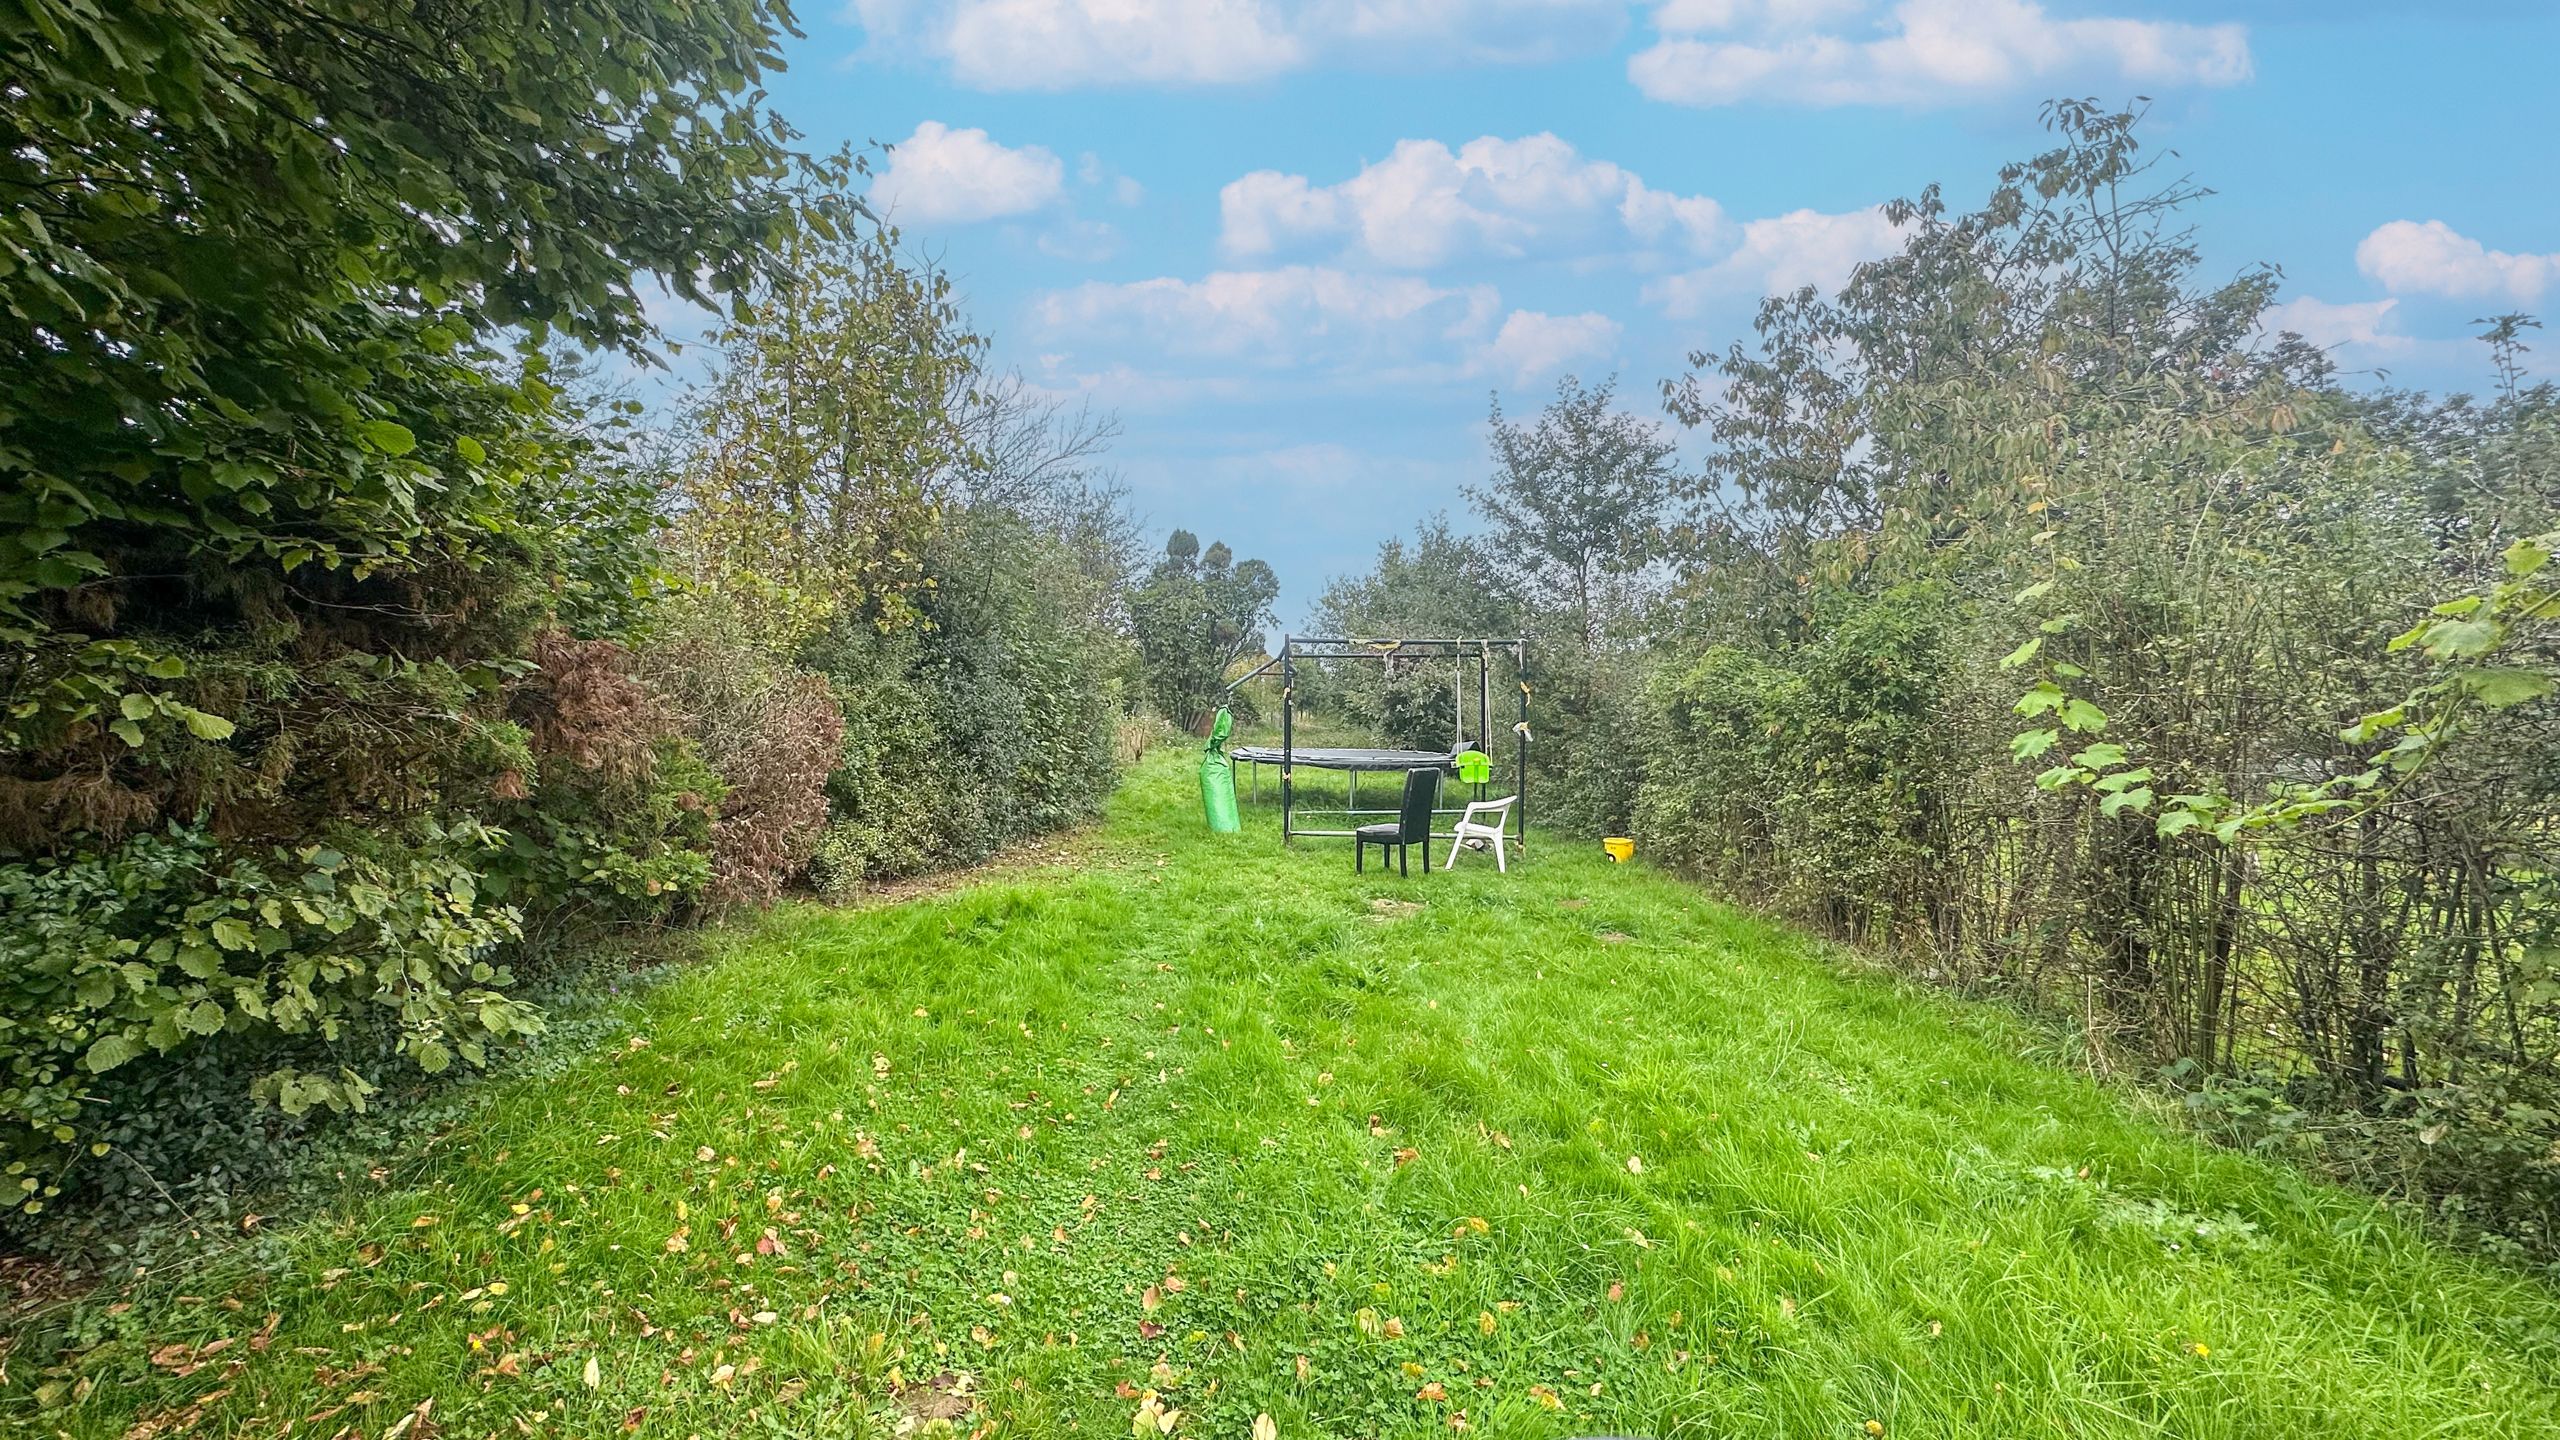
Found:
M 1236 85 L 1318 56 L 1549 59 L 1608 44 L 1626 0 L 852 0 L 865 51 L 978 90 Z

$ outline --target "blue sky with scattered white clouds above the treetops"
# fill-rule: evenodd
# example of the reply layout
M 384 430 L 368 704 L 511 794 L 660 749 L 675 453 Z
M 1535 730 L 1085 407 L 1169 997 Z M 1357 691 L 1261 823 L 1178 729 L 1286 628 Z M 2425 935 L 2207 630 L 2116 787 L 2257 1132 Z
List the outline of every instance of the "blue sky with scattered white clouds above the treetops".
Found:
M 2276 323 L 2476 389 L 2560 310 L 2560 5 L 2371 0 L 852 0 L 773 100 L 886 141 L 873 200 L 996 359 L 1116 410 L 1149 528 L 1277 566 L 1283 620 L 1464 523 L 1485 413 L 1559 374 L 1654 413 L 1759 295 L 1976 200 L 2051 95 L 2153 97 Z M 2560 356 L 2560 333 L 2542 369 Z

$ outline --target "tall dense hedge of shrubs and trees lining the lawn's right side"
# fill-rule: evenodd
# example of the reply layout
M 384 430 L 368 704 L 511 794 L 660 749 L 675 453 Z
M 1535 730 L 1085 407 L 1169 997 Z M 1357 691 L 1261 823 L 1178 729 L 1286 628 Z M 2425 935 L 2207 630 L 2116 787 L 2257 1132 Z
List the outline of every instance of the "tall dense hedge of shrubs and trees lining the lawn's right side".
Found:
M 2560 389 L 2365 400 L 2199 287 L 2132 115 L 1692 356 L 1638 815 L 2209 1125 L 2560 1250 Z M 2109 200 L 2092 200 L 2107 195 Z M 2130 200 L 2125 200 L 2130 197 Z

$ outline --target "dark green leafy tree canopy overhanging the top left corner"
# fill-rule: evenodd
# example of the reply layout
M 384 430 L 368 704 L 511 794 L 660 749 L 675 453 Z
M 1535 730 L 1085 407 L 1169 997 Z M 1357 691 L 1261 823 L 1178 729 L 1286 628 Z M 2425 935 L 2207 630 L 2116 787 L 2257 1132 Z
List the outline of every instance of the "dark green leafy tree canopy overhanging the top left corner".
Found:
M 709 300 L 771 266 L 794 215 L 842 210 L 788 192 L 824 174 L 750 97 L 781 23 L 763 0 L 15 5 L 8 743 L 207 728 L 118 715 L 174 679 L 182 646 L 146 620 L 172 569 L 343 600 L 486 564 L 538 405 L 492 377 L 499 336 L 635 348 L 635 274 Z

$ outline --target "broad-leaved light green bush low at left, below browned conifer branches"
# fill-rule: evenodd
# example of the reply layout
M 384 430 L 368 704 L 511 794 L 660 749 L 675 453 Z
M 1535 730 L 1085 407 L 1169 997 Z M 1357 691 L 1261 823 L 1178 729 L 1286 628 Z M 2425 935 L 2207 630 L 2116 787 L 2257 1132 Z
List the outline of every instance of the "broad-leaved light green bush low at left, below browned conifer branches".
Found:
M 461 822 L 246 853 L 174 828 L 0 866 L 0 1148 L 28 1212 L 92 1143 L 90 1089 L 143 1056 L 225 1033 L 333 1040 L 379 1010 L 399 1056 L 435 1074 L 538 1030 L 494 963 L 517 933 L 479 889 L 497 843 Z M 256 1081 L 287 1115 L 361 1109 L 371 1089 L 346 1068 Z

